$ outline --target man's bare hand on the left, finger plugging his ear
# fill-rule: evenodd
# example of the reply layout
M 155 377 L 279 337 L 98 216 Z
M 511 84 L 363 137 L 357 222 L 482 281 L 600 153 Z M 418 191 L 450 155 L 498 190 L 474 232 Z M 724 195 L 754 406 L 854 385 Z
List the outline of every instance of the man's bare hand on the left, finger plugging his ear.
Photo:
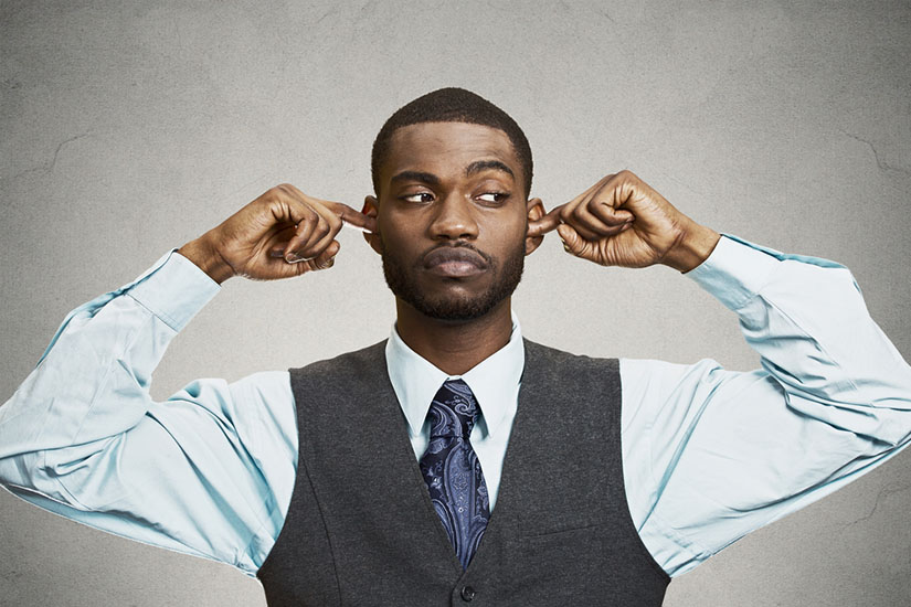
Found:
M 340 202 L 277 185 L 178 253 L 216 283 L 232 276 L 274 280 L 331 267 L 342 222 L 375 232 L 377 221 Z

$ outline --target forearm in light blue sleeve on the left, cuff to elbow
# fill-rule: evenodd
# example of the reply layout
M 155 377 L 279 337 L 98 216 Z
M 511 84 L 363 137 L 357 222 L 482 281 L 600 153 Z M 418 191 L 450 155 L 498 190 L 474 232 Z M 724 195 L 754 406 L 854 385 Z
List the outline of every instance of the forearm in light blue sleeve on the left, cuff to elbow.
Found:
M 0 460 L 114 436 L 142 417 L 165 349 L 218 290 L 190 288 L 199 271 L 178 257 L 74 310 L 0 407 Z

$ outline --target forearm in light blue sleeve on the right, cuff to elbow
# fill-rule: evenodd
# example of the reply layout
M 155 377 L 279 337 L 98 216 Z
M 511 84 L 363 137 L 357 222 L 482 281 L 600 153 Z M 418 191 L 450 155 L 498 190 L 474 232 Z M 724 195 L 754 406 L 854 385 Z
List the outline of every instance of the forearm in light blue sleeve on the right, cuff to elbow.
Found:
M 708 271 L 690 274 L 738 313 L 792 406 L 888 443 L 907 439 L 911 422 L 900 420 L 911 412 L 911 368 L 870 318 L 850 271 L 731 241 L 724 247 Z

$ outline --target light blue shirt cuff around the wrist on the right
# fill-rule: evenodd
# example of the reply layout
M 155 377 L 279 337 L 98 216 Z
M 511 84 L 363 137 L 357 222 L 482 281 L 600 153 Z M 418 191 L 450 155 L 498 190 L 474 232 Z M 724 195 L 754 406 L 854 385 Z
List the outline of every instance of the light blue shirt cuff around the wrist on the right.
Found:
M 685 276 L 737 311 L 765 286 L 778 264 L 777 252 L 722 235 L 708 259 Z

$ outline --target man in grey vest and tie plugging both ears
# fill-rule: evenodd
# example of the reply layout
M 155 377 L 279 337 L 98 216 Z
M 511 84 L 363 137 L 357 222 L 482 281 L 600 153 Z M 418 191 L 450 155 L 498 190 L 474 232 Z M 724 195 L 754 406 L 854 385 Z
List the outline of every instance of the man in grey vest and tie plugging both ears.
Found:
M 626 171 L 545 212 L 518 125 L 462 89 L 398 110 L 372 171 L 360 213 L 279 185 L 77 308 L 0 407 L 6 486 L 233 564 L 271 605 L 660 605 L 670 576 L 908 444 L 911 370 L 844 267 L 721 237 Z M 343 223 L 382 256 L 388 341 L 151 402 L 216 284 L 331 267 Z M 692 277 L 763 369 L 523 341 L 510 296 L 551 231 Z

